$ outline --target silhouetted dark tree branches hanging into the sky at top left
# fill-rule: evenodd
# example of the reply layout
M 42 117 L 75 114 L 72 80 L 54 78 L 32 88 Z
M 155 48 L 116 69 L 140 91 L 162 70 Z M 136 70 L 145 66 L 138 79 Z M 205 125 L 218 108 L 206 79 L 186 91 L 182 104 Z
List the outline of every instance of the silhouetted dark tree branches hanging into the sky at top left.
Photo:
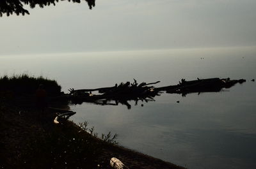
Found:
M 24 4 L 28 4 L 30 8 L 35 8 L 36 4 L 38 4 L 41 8 L 44 6 L 49 6 L 50 4 L 55 5 L 59 1 L 65 0 L 0 0 L 0 17 L 3 16 L 3 13 L 6 13 L 7 16 L 16 13 L 19 15 L 29 14 L 29 11 L 23 8 Z M 95 6 L 95 0 L 68 0 L 68 2 L 72 1 L 73 3 L 81 3 L 81 1 L 86 1 L 88 3 L 89 8 L 92 10 L 92 6 Z

